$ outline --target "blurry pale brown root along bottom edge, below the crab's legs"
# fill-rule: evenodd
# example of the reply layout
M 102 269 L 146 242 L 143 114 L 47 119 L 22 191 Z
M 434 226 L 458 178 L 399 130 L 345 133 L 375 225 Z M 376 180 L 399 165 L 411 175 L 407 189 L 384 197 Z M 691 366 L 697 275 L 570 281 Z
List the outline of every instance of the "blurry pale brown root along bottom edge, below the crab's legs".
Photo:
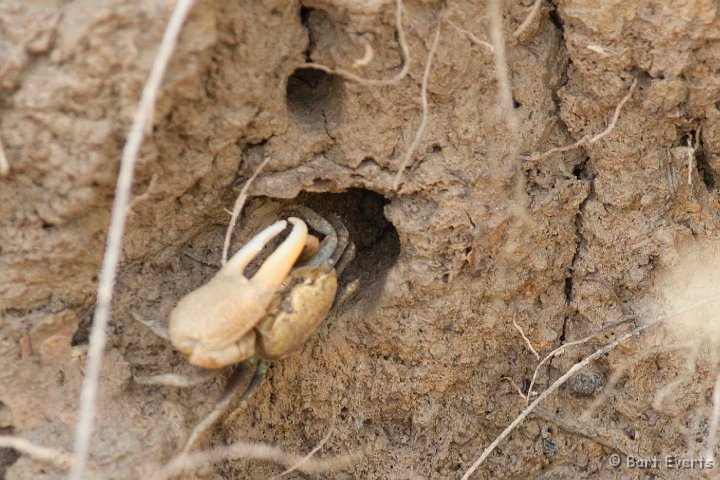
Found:
M 280 448 L 263 443 L 236 442 L 226 447 L 219 447 L 205 452 L 180 454 L 153 476 L 152 480 L 167 480 L 185 470 L 199 468 L 221 460 L 238 458 L 251 458 L 267 460 L 283 465 L 296 465 L 304 459 L 304 456 L 287 453 Z M 360 453 L 321 459 L 310 458 L 305 460 L 298 470 L 305 473 L 341 470 L 357 462 L 360 458 L 362 458 L 362 454 Z

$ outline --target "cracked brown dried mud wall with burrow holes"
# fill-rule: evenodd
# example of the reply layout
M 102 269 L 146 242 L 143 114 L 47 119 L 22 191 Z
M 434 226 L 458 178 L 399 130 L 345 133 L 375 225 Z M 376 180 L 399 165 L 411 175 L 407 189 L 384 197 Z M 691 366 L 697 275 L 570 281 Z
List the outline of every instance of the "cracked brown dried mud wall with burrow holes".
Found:
M 187 391 L 133 382 L 188 371 L 133 314 L 165 318 L 213 275 L 226 210 L 266 158 L 234 248 L 305 203 L 348 225 L 358 253 L 343 282 L 360 288 L 212 444 L 306 452 L 333 425 L 321 453 L 364 457 L 326 478 L 459 478 L 524 407 L 538 360 L 513 322 L 545 354 L 646 318 L 657 272 L 717 229 L 717 3 L 543 1 L 516 38 L 532 3 L 503 6 L 513 131 L 482 2 L 405 1 L 402 32 L 388 1 L 197 2 L 135 175 L 92 443 L 101 478 L 156 471 L 220 395 L 223 377 Z M 120 149 L 173 5 L 0 4 L 2 432 L 72 448 Z M 396 190 L 438 28 L 426 126 Z M 536 159 L 605 130 L 635 80 L 606 136 Z M 612 332 L 546 364 L 534 390 Z M 695 348 L 688 372 L 674 345 L 654 331 L 604 356 L 475 478 L 622 475 L 611 453 L 697 454 L 715 364 Z M 232 460 L 197 475 L 281 471 Z M 9 450 L 0 472 L 63 475 Z

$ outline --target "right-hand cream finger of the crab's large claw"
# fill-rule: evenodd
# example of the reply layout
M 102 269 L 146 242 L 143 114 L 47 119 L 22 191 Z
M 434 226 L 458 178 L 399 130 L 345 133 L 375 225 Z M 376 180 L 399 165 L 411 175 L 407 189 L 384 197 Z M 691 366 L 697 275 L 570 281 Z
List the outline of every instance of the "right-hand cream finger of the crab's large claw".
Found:
M 288 218 L 288 222 L 293 225 L 292 232 L 272 255 L 263 262 L 257 273 L 250 279 L 250 282 L 259 288 L 268 288 L 270 290 L 269 295 L 273 295 L 275 287 L 285 280 L 303 248 L 305 248 L 307 225 L 295 217 Z

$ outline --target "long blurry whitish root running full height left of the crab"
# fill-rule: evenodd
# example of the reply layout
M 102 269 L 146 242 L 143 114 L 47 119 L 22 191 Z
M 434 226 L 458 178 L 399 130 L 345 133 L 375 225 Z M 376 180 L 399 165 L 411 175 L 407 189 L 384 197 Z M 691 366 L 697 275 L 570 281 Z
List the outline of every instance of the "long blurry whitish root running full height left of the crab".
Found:
M 158 47 L 157 56 L 153 61 L 150 75 L 143 88 L 142 97 L 138 104 L 135 118 L 130 127 L 125 147 L 120 160 L 120 173 L 118 174 L 113 201 L 110 228 L 108 231 L 105 254 L 98 284 L 95 315 L 90 330 L 85 378 L 80 392 L 80 412 L 75 430 L 75 454 L 77 461 L 70 471 L 70 480 L 83 480 L 85 467 L 90 450 L 90 437 L 95 420 L 95 401 L 97 399 L 100 369 L 102 367 L 103 351 L 107 337 L 107 324 L 110 318 L 110 303 L 112 302 L 115 287 L 115 276 L 120 252 L 122 250 L 122 237 L 125 231 L 130 191 L 132 189 L 133 173 L 137 161 L 140 145 L 142 144 L 145 129 L 152 118 L 155 98 L 160 89 L 165 69 L 170 56 L 175 49 L 180 30 L 187 17 L 193 0 L 178 0 L 175 9 L 168 21 L 162 42 Z

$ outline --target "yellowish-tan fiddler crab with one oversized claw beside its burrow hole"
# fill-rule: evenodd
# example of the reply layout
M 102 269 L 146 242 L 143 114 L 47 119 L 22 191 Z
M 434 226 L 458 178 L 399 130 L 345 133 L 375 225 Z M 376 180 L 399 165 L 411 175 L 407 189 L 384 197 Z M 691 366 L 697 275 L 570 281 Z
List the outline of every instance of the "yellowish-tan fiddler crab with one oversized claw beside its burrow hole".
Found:
M 200 368 L 192 377 L 136 377 L 137 383 L 189 387 L 223 367 L 240 364 L 214 410 L 193 429 L 184 451 L 228 410 L 243 386 L 241 401 L 247 400 L 261 384 L 267 361 L 298 349 L 333 306 L 348 296 L 338 295 L 338 277 L 355 256 L 345 225 L 336 218 L 328 222 L 307 207 L 295 207 L 292 214 L 258 233 L 208 283 L 185 295 L 167 326 L 135 316 Z M 292 230 L 287 238 L 255 275 L 246 277 L 246 267 L 288 223 Z M 322 241 L 308 232 L 308 226 L 323 236 Z M 347 290 L 355 286 L 353 282 Z

